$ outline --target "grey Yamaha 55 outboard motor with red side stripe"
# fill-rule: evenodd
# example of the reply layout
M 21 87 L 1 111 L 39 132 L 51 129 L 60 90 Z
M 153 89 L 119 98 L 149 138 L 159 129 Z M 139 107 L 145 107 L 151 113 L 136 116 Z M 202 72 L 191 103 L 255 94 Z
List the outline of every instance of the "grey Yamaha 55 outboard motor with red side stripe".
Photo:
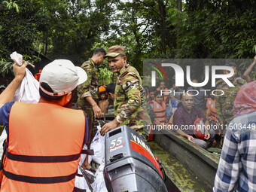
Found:
M 129 126 L 105 134 L 104 177 L 108 191 L 165 192 L 161 169 L 148 144 Z

